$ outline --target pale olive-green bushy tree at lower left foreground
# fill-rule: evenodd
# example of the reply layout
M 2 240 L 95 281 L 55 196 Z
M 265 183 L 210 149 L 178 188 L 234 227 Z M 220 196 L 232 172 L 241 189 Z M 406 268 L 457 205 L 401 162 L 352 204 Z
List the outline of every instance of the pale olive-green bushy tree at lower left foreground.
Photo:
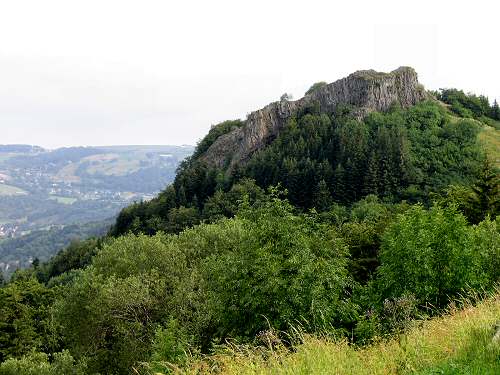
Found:
M 71 353 L 87 357 L 91 371 L 129 373 L 171 317 L 172 296 L 186 274 L 186 257 L 162 234 L 106 244 L 54 307 Z

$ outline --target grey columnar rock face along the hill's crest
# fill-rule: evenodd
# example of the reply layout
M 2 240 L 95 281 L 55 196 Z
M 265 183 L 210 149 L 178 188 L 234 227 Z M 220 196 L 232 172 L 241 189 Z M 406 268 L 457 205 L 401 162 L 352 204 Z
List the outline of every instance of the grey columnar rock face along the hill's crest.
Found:
M 213 167 L 229 166 L 231 170 L 276 137 L 296 110 L 313 103 L 319 103 L 324 112 L 333 112 L 339 105 L 352 105 L 363 117 L 372 111 L 386 111 L 394 103 L 406 108 L 426 98 L 412 68 L 400 67 L 391 73 L 358 71 L 299 100 L 274 102 L 252 112 L 244 126 L 220 136 L 201 160 Z

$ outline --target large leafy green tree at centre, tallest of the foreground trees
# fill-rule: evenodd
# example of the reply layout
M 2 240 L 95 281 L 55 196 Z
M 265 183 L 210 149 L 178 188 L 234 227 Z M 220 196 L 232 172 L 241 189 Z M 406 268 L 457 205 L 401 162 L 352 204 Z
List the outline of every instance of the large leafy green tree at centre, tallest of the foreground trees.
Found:
M 350 322 L 347 248 L 331 227 L 280 200 L 237 220 L 244 231 L 236 246 L 202 268 L 216 337 L 288 330 L 297 320 L 307 330 Z

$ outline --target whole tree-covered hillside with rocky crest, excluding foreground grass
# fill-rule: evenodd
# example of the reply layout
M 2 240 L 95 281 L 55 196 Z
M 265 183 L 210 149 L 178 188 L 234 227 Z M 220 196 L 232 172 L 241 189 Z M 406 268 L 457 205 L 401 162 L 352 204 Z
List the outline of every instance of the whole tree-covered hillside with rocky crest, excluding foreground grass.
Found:
M 498 121 L 400 68 L 212 127 L 107 236 L 0 289 L 0 374 L 230 373 L 231 348 L 238 368 L 350 353 L 478 301 L 500 281 Z

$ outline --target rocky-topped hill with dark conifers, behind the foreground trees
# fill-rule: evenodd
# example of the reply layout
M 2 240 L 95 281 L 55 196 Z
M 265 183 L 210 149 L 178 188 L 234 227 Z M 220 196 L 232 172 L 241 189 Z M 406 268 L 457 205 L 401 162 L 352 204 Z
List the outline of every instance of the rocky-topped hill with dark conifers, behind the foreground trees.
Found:
M 212 127 L 172 186 L 123 210 L 113 233 L 175 232 L 231 216 L 222 201 L 234 206 L 238 198 L 227 194 L 245 178 L 262 189 L 280 184 L 305 210 L 369 194 L 427 204 L 433 193 L 475 181 L 485 155 L 479 138 L 496 152 L 489 104 L 453 90 L 426 92 L 411 68 L 356 72 L 313 88 L 297 101 L 284 98 L 245 121 Z

